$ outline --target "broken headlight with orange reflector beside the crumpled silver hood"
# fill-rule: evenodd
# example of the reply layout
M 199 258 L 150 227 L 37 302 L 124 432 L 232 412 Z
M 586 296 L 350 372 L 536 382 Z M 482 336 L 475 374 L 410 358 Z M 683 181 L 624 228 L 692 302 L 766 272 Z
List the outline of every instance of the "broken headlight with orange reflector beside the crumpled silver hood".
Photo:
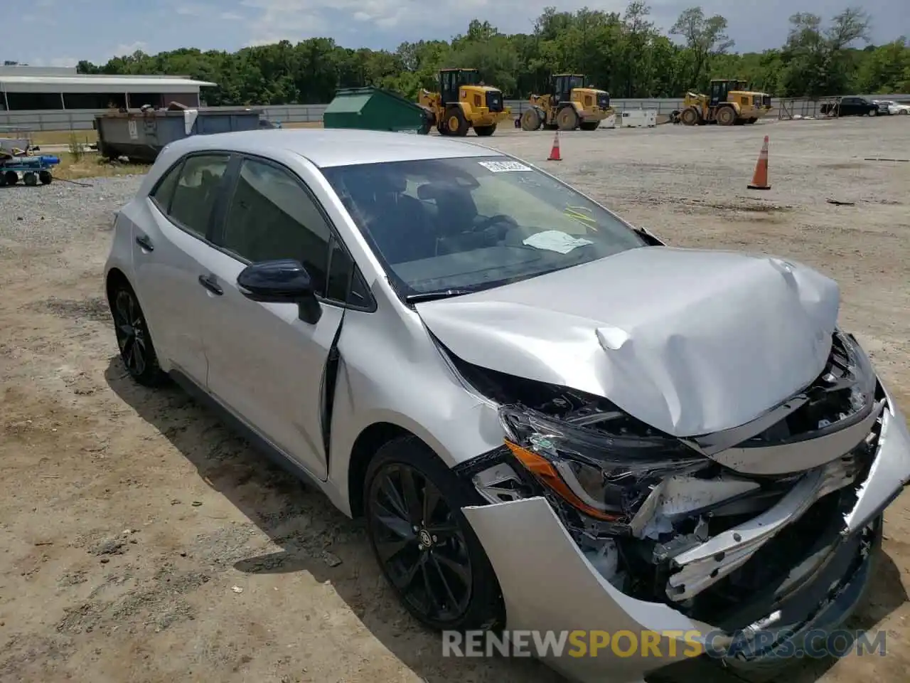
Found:
M 664 478 L 711 464 L 670 436 L 647 427 L 630 430 L 631 418 L 621 412 L 559 419 L 502 406 L 500 420 L 506 445 L 541 484 L 606 522 L 628 524 Z

